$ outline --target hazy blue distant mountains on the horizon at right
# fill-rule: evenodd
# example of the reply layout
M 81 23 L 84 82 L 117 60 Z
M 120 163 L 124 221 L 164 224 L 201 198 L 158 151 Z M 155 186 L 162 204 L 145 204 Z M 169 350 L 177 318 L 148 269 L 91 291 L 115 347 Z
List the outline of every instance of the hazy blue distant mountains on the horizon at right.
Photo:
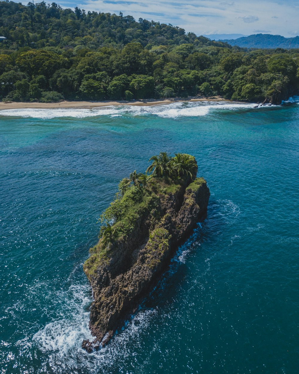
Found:
M 285 38 L 281 35 L 254 34 L 238 39 L 219 39 L 221 42 L 227 42 L 232 46 L 246 48 L 299 48 L 299 36 L 294 38 Z

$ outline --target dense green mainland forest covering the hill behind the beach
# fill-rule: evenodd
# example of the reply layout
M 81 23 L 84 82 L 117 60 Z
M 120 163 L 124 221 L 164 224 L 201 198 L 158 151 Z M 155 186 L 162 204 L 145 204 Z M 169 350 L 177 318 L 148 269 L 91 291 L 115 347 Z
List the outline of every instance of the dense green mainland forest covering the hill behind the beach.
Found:
M 249 50 L 172 25 L 58 4 L 0 1 L 0 99 L 104 100 L 298 92 L 299 50 Z

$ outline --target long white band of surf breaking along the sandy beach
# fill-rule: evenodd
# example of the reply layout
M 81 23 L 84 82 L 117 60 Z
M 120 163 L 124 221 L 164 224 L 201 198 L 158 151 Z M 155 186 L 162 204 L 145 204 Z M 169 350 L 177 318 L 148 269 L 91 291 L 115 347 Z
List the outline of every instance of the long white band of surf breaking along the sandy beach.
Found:
M 251 109 L 255 104 L 221 103 L 218 102 L 174 102 L 167 105 L 133 106 L 111 105 L 92 109 L 83 108 L 49 108 L 49 109 L 7 109 L 1 110 L 1 116 L 24 118 L 52 119 L 52 118 L 85 118 L 96 116 L 120 117 L 124 115 L 143 116 L 155 115 L 163 118 L 206 116 L 211 110 L 239 110 Z

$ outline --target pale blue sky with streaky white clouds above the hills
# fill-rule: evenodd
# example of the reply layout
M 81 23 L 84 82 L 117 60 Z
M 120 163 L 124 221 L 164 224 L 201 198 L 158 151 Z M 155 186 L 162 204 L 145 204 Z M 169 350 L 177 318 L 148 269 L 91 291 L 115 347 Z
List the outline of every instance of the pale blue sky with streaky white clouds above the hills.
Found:
M 50 1 L 49 1 L 50 2 Z M 299 1 L 289 0 L 61 0 L 63 7 L 153 19 L 200 34 L 299 35 Z M 26 2 L 24 2 L 26 3 Z

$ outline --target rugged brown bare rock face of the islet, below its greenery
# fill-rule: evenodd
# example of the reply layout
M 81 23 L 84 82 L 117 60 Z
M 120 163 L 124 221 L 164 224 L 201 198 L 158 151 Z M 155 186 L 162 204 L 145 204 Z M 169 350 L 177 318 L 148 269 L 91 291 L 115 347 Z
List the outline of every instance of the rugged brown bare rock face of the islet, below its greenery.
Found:
M 187 187 L 174 187 L 159 188 L 147 204 L 136 206 L 132 228 L 104 255 L 93 248 L 84 264 L 95 299 L 89 326 L 96 338 L 83 341 L 87 351 L 107 344 L 157 283 L 178 246 L 205 218 L 210 196 L 206 181 L 196 178 Z

